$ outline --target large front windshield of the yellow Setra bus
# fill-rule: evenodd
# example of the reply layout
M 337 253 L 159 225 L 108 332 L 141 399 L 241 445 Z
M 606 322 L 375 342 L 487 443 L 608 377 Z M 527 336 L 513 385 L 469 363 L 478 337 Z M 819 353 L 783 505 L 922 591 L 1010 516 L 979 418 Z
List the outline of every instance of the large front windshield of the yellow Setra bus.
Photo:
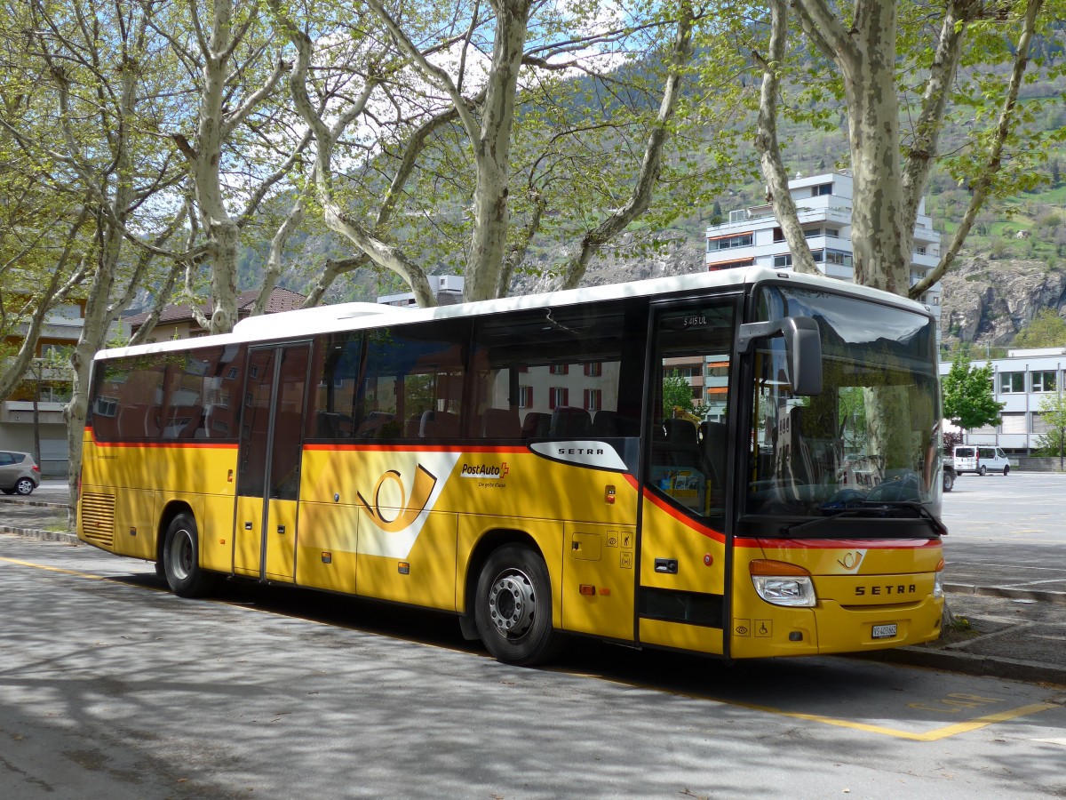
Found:
M 784 338 L 758 342 L 746 512 L 780 517 L 939 514 L 933 320 L 782 286 L 761 290 L 758 311 L 762 321 L 792 316 L 818 322 L 823 386 L 818 395 L 794 394 Z

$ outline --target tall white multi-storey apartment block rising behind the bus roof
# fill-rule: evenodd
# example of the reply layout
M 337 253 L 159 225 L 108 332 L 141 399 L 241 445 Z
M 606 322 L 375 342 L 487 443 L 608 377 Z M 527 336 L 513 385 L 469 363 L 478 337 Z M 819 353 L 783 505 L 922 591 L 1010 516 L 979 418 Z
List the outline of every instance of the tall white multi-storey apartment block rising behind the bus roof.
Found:
M 818 268 L 830 277 L 853 281 L 852 266 L 852 175 L 847 170 L 797 177 L 789 181 L 789 193 L 795 202 Z M 925 214 L 925 201 L 918 207 L 915 224 L 914 252 L 910 257 L 910 284 L 918 281 L 940 261 L 940 234 Z M 729 212 L 729 221 L 707 228 L 707 269 L 756 265 L 771 269 L 791 269 L 792 256 L 774 208 L 761 206 Z M 940 284 L 922 295 L 922 302 L 940 317 Z

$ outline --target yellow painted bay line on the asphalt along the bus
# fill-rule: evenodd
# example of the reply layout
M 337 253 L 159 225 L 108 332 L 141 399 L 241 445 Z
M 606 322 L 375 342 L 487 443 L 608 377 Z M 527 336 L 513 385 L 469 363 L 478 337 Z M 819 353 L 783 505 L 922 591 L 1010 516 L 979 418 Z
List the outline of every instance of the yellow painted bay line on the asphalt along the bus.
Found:
M 104 575 L 93 575 L 91 573 L 79 572 L 77 570 L 65 570 L 59 566 L 48 566 L 46 564 L 37 564 L 32 561 L 22 561 L 15 558 L 5 558 L 0 556 L 0 561 L 5 561 L 11 564 L 17 564 L 19 566 L 31 566 L 37 570 L 45 570 L 48 572 L 58 572 L 64 575 L 74 575 L 79 578 L 88 578 L 90 580 L 109 580 L 115 582 L 119 581 L 117 578 L 108 577 Z M 128 585 L 126 585 L 128 586 Z M 144 589 L 151 589 L 150 587 L 138 587 Z M 152 591 L 160 591 L 155 590 Z M 208 602 L 220 602 L 220 601 L 208 601 Z M 226 601 L 221 601 L 230 608 L 241 608 L 247 611 L 259 611 L 260 613 L 269 613 L 273 615 L 285 617 L 287 614 L 273 611 L 271 609 L 256 608 L 254 606 L 245 606 L 237 603 L 229 603 Z M 305 618 L 300 618 L 305 622 L 317 622 L 316 620 L 307 620 Z M 323 625 L 328 625 L 329 627 L 345 627 L 338 626 L 332 623 L 319 623 Z M 350 628 L 351 629 L 351 628 Z M 359 629 L 359 628 L 355 628 Z M 388 636 L 387 634 L 378 634 L 382 636 Z M 390 637 L 403 639 L 403 637 Z M 432 644 L 426 642 L 419 642 L 418 640 L 403 639 L 404 641 L 413 641 L 416 643 L 426 644 L 432 647 L 441 647 L 442 650 L 449 650 L 453 653 L 465 653 L 466 651 L 455 650 L 452 647 L 442 646 L 439 644 Z M 488 657 L 488 656 L 485 656 Z M 754 711 L 762 711 L 764 714 L 774 714 L 780 717 L 789 717 L 791 719 L 802 719 L 808 722 L 819 722 L 824 725 L 834 725 L 836 727 L 846 727 L 853 731 L 865 731 L 867 733 L 878 734 L 881 736 L 890 736 L 897 739 L 907 739 L 909 741 L 939 741 L 940 739 L 946 739 L 949 736 L 957 736 L 959 734 L 969 733 L 971 731 L 976 731 L 982 727 L 987 727 L 988 725 L 996 724 L 997 722 L 1005 722 L 1007 720 L 1017 719 L 1018 717 L 1025 717 L 1031 714 L 1038 714 L 1039 711 L 1047 711 L 1051 708 L 1061 708 L 1060 704 L 1055 703 L 1032 703 L 1030 705 L 1021 706 L 1020 708 L 1012 708 L 1005 711 L 999 711 L 997 714 L 989 714 L 984 717 L 978 717 L 976 719 L 968 720 L 966 722 L 959 722 L 954 725 L 947 725 L 944 727 L 934 729 L 933 731 L 926 731 L 925 733 L 915 733 L 912 731 L 900 731 L 893 727 L 887 727 L 884 725 L 871 725 L 866 722 L 853 722 L 851 720 L 837 719 L 836 717 L 825 717 L 820 714 L 805 714 L 803 711 L 787 711 L 784 708 L 775 708 L 773 706 L 759 705 L 757 703 L 744 703 L 737 700 L 726 700 L 723 698 L 715 698 L 711 694 L 701 694 L 696 692 L 685 692 L 678 689 L 668 689 L 661 686 L 651 686 L 649 684 L 640 683 L 636 681 L 626 681 L 624 678 L 608 677 L 607 675 L 589 673 L 589 672 L 572 672 L 568 670 L 559 670 L 559 672 L 574 675 L 577 677 L 591 677 L 597 681 L 605 681 L 608 683 L 617 684 L 619 686 L 629 686 L 636 689 L 647 689 L 649 691 L 664 692 L 666 694 L 673 694 L 675 697 L 691 698 L 693 700 L 709 700 L 713 703 L 720 703 L 722 705 L 733 706 L 737 708 L 748 708 Z M 1064 745 L 1066 746 L 1066 739 L 1036 739 L 1036 741 L 1047 741 L 1053 745 Z

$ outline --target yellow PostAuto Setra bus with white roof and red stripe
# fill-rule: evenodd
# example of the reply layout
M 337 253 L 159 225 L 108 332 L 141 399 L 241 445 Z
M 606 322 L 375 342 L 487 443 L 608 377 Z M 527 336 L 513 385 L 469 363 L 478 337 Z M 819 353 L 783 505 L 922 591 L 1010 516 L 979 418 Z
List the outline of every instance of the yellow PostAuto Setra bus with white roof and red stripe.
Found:
M 79 537 L 187 597 L 443 609 L 517 665 L 577 635 L 914 644 L 943 604 L 936 352 L 917 303 L 759 268 L 252 318 L 97 354 Z

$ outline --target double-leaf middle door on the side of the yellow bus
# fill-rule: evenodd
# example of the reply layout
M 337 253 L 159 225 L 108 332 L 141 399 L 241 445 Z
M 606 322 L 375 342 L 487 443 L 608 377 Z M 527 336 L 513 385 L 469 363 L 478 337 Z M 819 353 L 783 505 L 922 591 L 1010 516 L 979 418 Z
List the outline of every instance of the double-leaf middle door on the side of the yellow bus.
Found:
M 248 350 L 237 467 L 237 575 L 293 579 L 309 361 L 308 343 Z

